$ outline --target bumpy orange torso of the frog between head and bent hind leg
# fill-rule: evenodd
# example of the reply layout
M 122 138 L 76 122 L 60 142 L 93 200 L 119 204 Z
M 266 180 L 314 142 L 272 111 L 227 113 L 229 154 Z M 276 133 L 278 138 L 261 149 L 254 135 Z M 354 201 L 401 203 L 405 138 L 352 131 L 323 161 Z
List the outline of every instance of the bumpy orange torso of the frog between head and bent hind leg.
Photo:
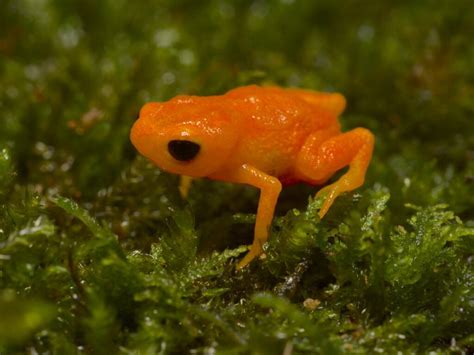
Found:
M 278 87 L 244 86 L 229 91 L 222 104 L 239 121 L 238 151 L 232 164 L 250 164 L 272 176 L 290 176 L 307 137 L 339 130 L 337 116 Z

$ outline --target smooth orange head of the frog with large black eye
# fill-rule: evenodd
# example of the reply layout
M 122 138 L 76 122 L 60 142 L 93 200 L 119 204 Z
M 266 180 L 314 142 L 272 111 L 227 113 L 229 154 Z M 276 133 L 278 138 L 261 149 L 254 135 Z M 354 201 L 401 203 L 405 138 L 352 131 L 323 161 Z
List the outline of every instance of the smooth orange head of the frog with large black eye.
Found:
M 205 97 L 178 96 L 140 110 L 130 139 L 165 171 L 204 177 L 219 170 L 237 141 L 236 127 L 222 106 Z

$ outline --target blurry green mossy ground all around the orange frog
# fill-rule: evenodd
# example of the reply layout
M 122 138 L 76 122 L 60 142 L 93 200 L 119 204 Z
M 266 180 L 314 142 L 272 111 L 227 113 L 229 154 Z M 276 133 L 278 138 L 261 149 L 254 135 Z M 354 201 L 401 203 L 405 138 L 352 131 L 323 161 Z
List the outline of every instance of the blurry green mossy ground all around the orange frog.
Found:
M 474 5 L 3 0 L 0 354 L 474 351 Z M 177 178 L 140 106 L 248 83 L 339 91 L 377 138 L 323 221 L 282 194 Z

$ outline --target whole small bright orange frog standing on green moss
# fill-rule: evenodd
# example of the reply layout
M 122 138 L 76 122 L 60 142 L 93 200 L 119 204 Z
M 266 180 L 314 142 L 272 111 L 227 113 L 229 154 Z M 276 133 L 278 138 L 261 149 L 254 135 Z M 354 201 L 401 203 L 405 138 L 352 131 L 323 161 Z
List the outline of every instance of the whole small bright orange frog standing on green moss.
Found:
M 364 182 L 374 136 L 341 133 L 346 101 L 336 93 L 244 86 L 221 96 L 176 96 L 143 106 L 131 131 L 138 151 L 165 171 L 260 189 L 254 240 L 238 268 L 262 253 L 282 184 L 324 184 L 322 218 L 334 199 Z

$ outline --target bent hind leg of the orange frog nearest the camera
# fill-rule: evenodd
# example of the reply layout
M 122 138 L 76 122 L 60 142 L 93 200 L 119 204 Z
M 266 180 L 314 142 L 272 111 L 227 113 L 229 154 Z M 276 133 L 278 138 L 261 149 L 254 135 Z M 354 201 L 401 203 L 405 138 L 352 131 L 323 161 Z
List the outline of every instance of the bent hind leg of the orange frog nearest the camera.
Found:
M 320 132 L 309 136 L 297 157 L 296 172 L 306 181 L 322 182 L 339 169 L 349 170 L 336 182 L 316 194 L 325 196 L 319 211 L 322 218 L 337 196 L 352 191 L 364 183 L 365 172 L 372 158 L 374 136 L 365 128 L 356 128 L 321 142 Z

